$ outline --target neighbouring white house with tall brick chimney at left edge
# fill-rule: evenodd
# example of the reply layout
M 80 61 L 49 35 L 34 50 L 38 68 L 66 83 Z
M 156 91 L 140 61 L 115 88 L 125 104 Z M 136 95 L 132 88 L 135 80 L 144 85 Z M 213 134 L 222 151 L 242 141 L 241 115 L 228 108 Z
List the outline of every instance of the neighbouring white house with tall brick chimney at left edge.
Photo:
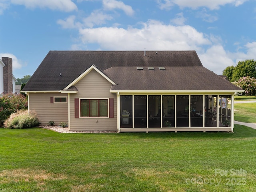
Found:
M 0 60 L 0 94 L 15 93 L 16 78 L 12 74 L 12 58 Z

